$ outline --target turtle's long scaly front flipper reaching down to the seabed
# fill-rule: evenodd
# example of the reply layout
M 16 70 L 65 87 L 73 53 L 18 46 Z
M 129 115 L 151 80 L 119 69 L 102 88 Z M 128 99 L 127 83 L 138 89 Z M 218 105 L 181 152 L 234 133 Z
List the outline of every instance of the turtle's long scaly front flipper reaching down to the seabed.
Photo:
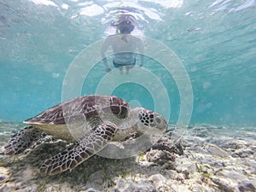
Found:
M 73 170 L 84 160 L 102 150 L 113 139 L 116 131 L 116 125 L 112 123 L 104 123 L 97 126 L 64 152 L 46 160 L 44 165 L 41 166 L 41 172 L 55 175 L 67 170 Z

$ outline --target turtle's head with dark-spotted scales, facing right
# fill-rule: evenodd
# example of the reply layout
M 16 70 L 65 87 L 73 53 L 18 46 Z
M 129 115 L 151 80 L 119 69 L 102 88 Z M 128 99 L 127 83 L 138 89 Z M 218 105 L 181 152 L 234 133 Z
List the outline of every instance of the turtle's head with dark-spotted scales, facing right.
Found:
M 167 130 L 166 119 L 146 108 L 135 108 L 138 115 L 137 131 L 145 134 L 162 134 Z

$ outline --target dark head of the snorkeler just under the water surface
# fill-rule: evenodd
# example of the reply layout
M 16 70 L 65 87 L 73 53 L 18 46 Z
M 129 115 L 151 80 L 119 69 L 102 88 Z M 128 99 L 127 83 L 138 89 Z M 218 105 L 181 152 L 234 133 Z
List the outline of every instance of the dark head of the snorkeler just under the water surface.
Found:
M 119 15 L 116 26 L 121 34 L 130 34 L 134 30 L 134 17 L 132 15 Z

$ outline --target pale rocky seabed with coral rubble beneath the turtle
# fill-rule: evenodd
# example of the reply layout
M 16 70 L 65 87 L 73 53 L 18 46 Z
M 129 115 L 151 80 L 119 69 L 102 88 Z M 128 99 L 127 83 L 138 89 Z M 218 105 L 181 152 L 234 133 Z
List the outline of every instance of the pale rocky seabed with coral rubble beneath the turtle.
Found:
M 1 123 L 1 146 L 20 126 Z M 1 155 L 0 191 L 256 191 L 255 127 L 194 125 L 177 130 L 172 126 L 137 157 L 95 155 L 72 172 L 55 176 L 38 172 L 38 167 L 65 148 L 64 141 L 51 139 L 20 155 Z

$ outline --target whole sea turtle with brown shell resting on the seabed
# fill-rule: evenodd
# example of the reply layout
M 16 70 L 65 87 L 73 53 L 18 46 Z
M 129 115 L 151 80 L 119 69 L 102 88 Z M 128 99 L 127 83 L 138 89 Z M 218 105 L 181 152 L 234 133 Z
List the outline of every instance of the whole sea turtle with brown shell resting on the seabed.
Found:
M 132 131 L 161 134 L 166 119 L 146 108 L 131 106 L 116 96 L 80 96 L 26 119 L 29 124 L 4 146 L 5 154 L 19 154 L 37 141 L 42 132 L 73 143 L 45 160 L 41 172 L 55 175 L 73 170 L 111 141 L 121 141 Z

